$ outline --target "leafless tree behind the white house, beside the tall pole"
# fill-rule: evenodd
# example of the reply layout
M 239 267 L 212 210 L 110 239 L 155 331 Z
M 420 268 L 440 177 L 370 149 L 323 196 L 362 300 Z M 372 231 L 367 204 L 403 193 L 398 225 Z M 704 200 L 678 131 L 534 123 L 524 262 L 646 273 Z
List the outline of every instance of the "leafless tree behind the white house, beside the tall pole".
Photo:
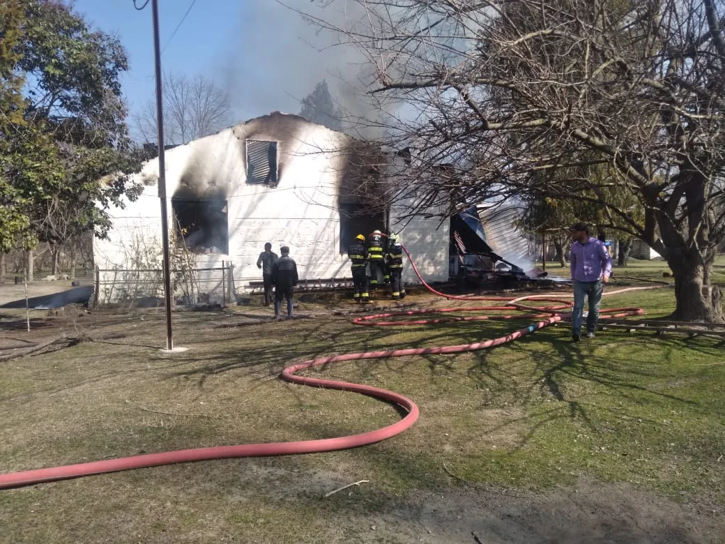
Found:
M 229 95 L 203 75 L 163 75 L 166 145 L 187 144 L 233 123 Z M 157 141 L 156 101 L 134 115 L 136 130 L 146 142 Z

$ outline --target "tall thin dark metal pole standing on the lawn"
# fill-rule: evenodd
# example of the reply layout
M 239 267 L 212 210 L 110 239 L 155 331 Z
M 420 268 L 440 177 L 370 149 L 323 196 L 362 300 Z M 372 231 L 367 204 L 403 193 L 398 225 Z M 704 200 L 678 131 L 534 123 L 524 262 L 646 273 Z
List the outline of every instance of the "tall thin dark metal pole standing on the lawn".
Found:
M 159 131 L 159 199 L 161 200 L 161 237 L 164 246 L 164 295 L 166 306 L 166 349 L 173 350 L 171 328 L 171 272 L 169 262 L 169 221 L 166 203 L 166 164 L 164 157 L 164 104 L 161 89 L 161 48 L 159 46 L 159 1 L 152 0 L 154 19 L 154 63 L 156 65 L 156 125 Z

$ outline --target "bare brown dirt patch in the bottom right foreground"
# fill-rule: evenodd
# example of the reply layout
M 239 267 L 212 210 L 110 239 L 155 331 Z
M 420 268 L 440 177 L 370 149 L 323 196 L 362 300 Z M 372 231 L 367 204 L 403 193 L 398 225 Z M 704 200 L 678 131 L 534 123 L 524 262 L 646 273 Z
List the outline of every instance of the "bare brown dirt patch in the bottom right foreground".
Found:
M 718 516 L 628 485 L 581 479 L 550 493 L 489 488 L 421 495 L 383 516 L 376 531 L 426 543 L 705 543 L 721 538 Z

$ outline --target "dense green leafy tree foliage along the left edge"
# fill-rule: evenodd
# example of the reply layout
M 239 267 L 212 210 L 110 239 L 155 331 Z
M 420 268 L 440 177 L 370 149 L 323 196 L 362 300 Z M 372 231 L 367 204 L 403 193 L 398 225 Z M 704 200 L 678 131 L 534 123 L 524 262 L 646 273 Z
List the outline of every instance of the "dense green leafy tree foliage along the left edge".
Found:
M 138 190 L 128 186 L 141 154 L 125 124 L 125 50 L 64 1 L 12 0 L 0 9 L 1 249 L 103 236 L 104 208 Z

